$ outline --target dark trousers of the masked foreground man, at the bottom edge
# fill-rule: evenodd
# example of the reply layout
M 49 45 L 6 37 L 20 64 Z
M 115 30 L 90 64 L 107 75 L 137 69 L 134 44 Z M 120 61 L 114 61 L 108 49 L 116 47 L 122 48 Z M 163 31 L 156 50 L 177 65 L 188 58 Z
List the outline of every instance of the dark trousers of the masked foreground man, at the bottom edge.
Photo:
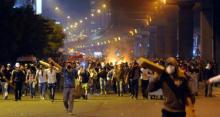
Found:
M 169 112 L 163 109 L 162 117 L 186 117 L 186 113 L 185 112 Z

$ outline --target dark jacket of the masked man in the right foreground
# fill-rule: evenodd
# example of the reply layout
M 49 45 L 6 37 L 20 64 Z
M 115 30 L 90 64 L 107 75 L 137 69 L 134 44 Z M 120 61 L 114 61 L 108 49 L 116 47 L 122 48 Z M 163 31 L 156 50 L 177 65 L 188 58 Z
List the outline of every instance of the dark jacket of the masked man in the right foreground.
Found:
M 175 85 L 175 81 L 181 82 L 179 86 Z M 185 112 L 186 98 L 190 97 L 194 102 L 194 97 L 188 86 L 186 78 L 171 79 L 170 75 L 163 73 L 158 79 L 151 79 L 149 83 L 149 91 L 153 92 L 162 89 L 165 97 L 164 109 L 170 112 Z M 178 80 L 177 80 L 178 79 Z

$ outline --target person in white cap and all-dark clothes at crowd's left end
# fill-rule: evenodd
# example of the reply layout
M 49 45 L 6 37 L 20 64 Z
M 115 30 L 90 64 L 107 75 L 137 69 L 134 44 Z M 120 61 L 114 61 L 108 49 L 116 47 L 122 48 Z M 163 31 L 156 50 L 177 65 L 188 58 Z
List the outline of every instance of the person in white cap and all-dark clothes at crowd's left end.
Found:
M 20 68 L 20 63 L 15 64 L 15 69 L 12 71 L 11 82 L 14 84 L 15 101 L 21 100 L 22 85 L 25 80 L 25 73 Z

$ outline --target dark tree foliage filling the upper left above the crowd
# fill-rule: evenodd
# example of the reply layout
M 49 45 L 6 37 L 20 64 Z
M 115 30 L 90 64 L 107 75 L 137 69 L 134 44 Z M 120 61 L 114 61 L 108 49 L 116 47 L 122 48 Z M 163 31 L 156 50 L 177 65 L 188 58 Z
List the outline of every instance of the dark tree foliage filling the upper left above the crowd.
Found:
M 13 8 L 14 3 L 14 0 L 0 0 L 0 61 L 55 54 L 63 46 L 62 27 L 35 15 L 31 6 Z

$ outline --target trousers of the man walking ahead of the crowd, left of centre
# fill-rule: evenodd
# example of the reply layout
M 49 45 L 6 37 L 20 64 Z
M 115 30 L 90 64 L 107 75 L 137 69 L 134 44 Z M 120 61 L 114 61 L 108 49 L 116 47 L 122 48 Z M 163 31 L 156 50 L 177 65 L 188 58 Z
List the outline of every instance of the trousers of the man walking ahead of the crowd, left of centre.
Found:
M 74 88 L 64 88 L 63 89 L 63 103 L 64 107 L 68 112 L 73 111 L 73 98 Z

